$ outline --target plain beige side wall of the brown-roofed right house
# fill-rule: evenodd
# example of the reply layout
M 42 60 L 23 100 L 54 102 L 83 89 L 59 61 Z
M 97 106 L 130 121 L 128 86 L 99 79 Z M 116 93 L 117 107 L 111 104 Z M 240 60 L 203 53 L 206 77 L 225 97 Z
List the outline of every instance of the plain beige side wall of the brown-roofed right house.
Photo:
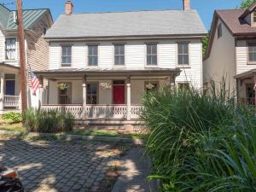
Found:
M 218 20 L 218 25 L 222 23 Z M 204 83 L 214 80 L 217 85 L 226 79 L 226 89 L 236 90 L 236 59 L 235 59 L 235 39 L 230 31 L 222 23 L 222 37 L 218 38 L 216 30 L 212 43 L 212 51 L 209 58 L 204 61 Z M 228 87 L 230 84 L 230 87 Z

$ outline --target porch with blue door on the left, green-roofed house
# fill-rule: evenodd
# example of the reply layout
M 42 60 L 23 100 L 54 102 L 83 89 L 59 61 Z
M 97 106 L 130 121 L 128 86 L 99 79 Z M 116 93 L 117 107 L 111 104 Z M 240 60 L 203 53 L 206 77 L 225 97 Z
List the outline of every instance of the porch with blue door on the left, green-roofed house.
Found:
M 19 67 L 0 63 L 0 114 L 20 111 Z

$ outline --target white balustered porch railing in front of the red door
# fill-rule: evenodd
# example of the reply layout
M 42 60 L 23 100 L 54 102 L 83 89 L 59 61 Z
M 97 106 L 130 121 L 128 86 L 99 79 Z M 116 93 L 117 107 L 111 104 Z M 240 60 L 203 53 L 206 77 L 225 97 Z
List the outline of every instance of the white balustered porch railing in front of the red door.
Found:
M 60 112 L 69 112 L 76 119 L 83 117 L 88 119 L 126 119 L 128 115 L 126 105 L 87 105 L 85 113 L 82 105 L 43 105 L 41 109 L 47 111 L 55 109 Z M 143 106 L 141 105 L 131 105 L 131 119 L 139 119 L 142 109 Z

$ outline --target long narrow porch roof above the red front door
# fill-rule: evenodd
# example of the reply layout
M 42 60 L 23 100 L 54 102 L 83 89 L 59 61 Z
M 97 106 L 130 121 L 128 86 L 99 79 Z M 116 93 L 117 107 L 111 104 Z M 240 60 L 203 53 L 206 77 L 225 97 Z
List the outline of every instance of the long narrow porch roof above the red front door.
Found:
M 55 70 L 46 70 L 35 72 L 38 76 L 44 78 L 75 78 L 83 77 L 124 77 L 124 76 L 143 76 L 143 77 L 156 77 L 156 76 L 175 76 L 180 74 L 181 70 L 178 68 L 61 68 Z

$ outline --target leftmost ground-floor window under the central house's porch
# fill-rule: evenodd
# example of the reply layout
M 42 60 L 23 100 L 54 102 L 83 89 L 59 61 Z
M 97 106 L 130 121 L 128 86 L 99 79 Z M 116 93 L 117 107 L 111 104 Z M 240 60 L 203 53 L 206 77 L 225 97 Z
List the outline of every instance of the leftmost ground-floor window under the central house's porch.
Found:
M 59 83 L 59 104 L 71 104 L 71 83 Z

